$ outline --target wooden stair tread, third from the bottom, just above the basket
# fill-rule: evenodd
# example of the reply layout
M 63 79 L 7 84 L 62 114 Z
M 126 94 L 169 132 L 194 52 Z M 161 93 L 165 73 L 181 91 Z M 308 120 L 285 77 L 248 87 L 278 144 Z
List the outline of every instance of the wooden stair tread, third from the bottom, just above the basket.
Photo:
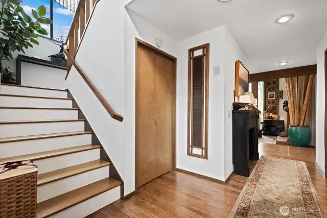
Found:
M 85 146 L 77 146 L 72 148 L 65 148 L 65 149 L 58 149 L 53 151 L 2 158 L 0 159 L 0 164 L 5 162 L 17 161 L 17 160 L 39 160 L 39 159 L 66 155 L 66 154 L 73 154 L 77 152 L 83 152 L 83 151 L 99 149 L 99 148 L 101 148 L 101 146 L 98 146 L 97 144 L 86 144 Z

